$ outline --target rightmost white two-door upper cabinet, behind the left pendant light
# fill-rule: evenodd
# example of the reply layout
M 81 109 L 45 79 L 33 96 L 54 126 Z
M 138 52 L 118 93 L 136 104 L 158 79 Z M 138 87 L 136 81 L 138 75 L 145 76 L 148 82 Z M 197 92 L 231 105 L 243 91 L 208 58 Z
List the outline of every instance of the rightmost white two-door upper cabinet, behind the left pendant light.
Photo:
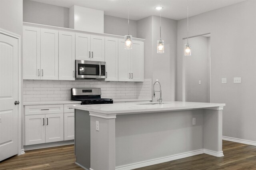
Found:
M 118 40 L 118 81 L 144 81 L 144 42 L 133 41 L 127 50 Z

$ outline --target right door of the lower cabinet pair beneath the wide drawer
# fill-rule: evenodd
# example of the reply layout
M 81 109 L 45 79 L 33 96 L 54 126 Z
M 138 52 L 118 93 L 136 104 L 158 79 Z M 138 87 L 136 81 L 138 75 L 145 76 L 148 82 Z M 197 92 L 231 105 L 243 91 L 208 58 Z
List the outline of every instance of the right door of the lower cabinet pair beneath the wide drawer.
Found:
M 45 142 L 64 140 L 63 113 L 45 115 Z

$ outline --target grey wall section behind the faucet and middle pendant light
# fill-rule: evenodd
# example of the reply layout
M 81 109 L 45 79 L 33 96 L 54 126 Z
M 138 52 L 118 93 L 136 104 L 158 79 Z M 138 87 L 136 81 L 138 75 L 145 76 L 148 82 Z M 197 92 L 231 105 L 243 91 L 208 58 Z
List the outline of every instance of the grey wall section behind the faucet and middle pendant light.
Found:
M 144 77 L 158 79 L 162 86 L 163 101 L 175 100 L 177 21 L 162 18 L 164 53 L 156 53 L 156 41 L 160 39 L 160 18 L 150 16 L 137 21 L 138 38 L 144 42 Z M 157 85 L 158 86 L 158 85 Z M 156 87 L 157 89 L 159 87 Z M 159 98 L 159 94 L 156 94 Z

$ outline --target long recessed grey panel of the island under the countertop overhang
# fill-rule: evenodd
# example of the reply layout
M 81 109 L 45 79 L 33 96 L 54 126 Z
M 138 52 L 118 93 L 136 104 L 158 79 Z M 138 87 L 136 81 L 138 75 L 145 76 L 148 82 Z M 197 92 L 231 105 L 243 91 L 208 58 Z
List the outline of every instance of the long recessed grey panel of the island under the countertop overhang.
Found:
M 202 154 L 203 112 L 198 109 L 117 115 L 116 168 L 154 159 L 166 162 L 176 154 Z M 196 125 L 192 125 L 192 118 L 196 118 Z M 177 158 L 181 157 L 174 159 Z

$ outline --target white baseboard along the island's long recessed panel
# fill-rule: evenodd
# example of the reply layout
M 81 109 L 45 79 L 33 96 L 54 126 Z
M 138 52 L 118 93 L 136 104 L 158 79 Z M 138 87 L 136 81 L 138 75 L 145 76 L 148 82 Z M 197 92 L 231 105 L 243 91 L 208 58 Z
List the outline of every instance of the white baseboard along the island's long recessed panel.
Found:
M 166 157 L 162 157 L 162 158 L 156 158 L 156 159 L 152 159 L 152 160 L 136 162 L 136 163 L 133 163 L 133 164 L 117 166 L 116 170 L 131 170 L 131 169 L 135 169 L 135 168 L 141 168 L 141 167 L 144 167 L 144 166 L 160 164 L 160 163 L 163 163 L 163 162 L 168 162 L 168 161 L 172 161 L 172 160 L 186 158 L 186 157 L 189 157 L 189 156 L 194 156 L 194 155 L 203 154 L 203 153 L 204 153 L 204 149 L 199 149 L 199 150 L 194 150 L 194 151 L 190 151 L 190 152 L 184 152 L 184 153 L 181 153 L 181 154 L 175 154 L 175 155 L 172 155 L 172 156 L 166 156 Z

